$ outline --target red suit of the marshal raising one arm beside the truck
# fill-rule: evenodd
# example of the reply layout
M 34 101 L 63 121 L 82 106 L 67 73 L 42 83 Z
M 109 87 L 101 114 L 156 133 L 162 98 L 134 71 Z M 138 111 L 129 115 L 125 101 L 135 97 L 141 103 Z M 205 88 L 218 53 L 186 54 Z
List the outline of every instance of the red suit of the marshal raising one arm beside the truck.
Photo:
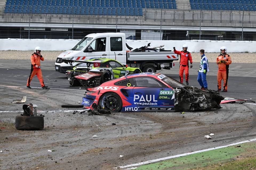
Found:
M 185 70 L 185 80 L 189 81 L 189 61 L 190 64 L 192 64 L 192 56 L 190 52 L 184 52 L 182 51 L 173 51 L 175 54 L 178 54 L 181 56 L 179 61 L 179 80 L 181 83 L 183 83 L 183 73 Z

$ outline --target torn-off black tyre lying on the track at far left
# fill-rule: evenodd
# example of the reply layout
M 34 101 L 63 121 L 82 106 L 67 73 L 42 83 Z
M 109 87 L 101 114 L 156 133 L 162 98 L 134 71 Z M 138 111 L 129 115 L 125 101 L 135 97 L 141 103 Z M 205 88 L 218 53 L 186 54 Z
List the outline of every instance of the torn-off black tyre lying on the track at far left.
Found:
M 16 116 L 16 129 L 43 129 L 43 116 Z

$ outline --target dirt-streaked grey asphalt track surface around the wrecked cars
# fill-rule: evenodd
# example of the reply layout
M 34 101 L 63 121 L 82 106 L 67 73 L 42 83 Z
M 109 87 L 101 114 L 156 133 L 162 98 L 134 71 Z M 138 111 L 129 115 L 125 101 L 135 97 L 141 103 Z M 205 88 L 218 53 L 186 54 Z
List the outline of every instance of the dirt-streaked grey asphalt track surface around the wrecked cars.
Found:
M 190 69 L 190 85 L 199 87 L 198 63 Z M 217 89 L 216 66 L 210 63 L 209 89 Z M 231 67 L 232 66 L 232 67 Z M 230 66 L 228 92 L 224 97 L 256 100 L 254 64 Z M 183 154 L 256 136 L 256 105 L 223 104 L 222 109 L 207 112 L 114 113 L 110 116 L 72 114 L 61 104 L 78 104 L 84 91 L 69 87 L 64 74 L 54 71 L 54 61 L 42 62 L 42 90 L 36 77 L 26 89 L 30 63 L 25 60 L 0 61 L 0 166 L 3 169 L 113 169 L 171 155 Z M 179 79 L 178 68 L 161 70 Z M 67 89 L 67 90 L 64 90 Z M 45 112 L 45 129 L 21 131 L 14 128 L 15 116 L 22 104 L 12 100 L 27 95 L 27 102 Z M 58 110 L 64 110 L 61 112 Z M 9 112 L 5 112 L 9 111 Z M 111 125 L 116 123 L 116 125 Z M 204 135 L 214 133 L 213 139 Z M 91 138 L 97 135 L 98 138 Z M 7 137 L 7 139 L 6 139 Z M 54 152 L 47 152 L 47 150 Z M 123 155 L 122 158 L 119 155 Z

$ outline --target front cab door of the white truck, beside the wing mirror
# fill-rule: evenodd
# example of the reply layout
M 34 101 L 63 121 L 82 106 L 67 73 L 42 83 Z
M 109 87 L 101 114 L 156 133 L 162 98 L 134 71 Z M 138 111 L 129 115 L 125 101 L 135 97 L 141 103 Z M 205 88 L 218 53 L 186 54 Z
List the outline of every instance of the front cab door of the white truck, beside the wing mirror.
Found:
M 89 58 L 109 58 L 108 46 L 107 46 L 107 37 L 101 37 L 93 40 L 90 46 L 93 48 L 93 57 Z M 107 49 L 107 50 L 106 50 Z M 87 53 L 87 55 L 90 53 Z M 87 57 L 88 58 L 88 57 Z

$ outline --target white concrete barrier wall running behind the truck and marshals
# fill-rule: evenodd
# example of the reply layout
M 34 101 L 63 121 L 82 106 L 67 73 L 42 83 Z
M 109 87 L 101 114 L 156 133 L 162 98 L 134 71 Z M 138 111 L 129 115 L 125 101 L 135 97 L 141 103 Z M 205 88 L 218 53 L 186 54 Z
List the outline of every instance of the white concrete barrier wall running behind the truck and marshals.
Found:
M 73 48 L 80 40 L 65 39 L 0 39 L 0 50 L 34 50 L 40 46 L 45 51 L 65 51 Z M 220 52 L 222 46 L 227 47 L 229 53 L 256 52 L 256 41 L 210 41 L 210 40 L 126 40 L 132 48 L 151 43 L 150 46 L 165 45 L 163 48 L 172 50 L 175 46 L 177 50 L 182 50 L 182 45 L 189 46 L 189 52 Z

